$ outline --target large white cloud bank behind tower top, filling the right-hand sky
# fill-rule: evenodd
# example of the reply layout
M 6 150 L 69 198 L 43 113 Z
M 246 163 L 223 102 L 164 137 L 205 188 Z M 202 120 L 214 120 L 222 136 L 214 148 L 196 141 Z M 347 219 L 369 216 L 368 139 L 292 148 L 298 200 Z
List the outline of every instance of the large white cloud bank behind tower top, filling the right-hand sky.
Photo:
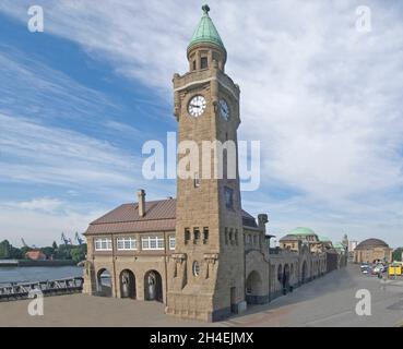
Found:
M 2 1 L 0 10 L 25 20 L 27 3 Z M 401 226 L 382 224 L 402 215 L 402 12 L 399 3 L 370 2 L 374 29 L 359 34 L 359 4 L 220 1 L 211 15 L 228 50 L 227 73 L 242 92 L 240 136 L 262 141 L 261 195 L 273 221 L 315 224 L 319 209 L 327 229 L 344 221 L 387 238 Z M 173 73 L 187 69 L 187 40 L 201 15 L 198 1 L 46 1 L 44 8 L 48 33 L 159 88 L 166 100 Z M 276 201 L 273 182 L 299 196 Z M 374 216 L 378 224 L 368 224 Z

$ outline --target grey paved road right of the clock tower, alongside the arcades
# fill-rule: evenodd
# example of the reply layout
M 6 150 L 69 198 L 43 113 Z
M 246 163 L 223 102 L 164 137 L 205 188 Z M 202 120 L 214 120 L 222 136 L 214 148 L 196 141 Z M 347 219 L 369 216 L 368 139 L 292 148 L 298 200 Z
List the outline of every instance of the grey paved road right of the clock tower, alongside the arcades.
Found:
M 371 294 L 371 316 L 358 316 L 358 290 Z M 228 326 L 390 327 L 403 324 L 403 281 L 382 287 L 377 277 L 364 276 L 356 265 L 333 272 L 268 305 L 249 308 Z

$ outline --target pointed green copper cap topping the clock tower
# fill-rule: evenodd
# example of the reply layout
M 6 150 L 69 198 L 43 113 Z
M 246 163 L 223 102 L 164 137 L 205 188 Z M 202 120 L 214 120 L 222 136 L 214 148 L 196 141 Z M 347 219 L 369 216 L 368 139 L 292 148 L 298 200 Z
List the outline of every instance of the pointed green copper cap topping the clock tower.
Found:
M 188 46 L 188 50 L 198 44 L 213 44 L 225 50 L 223 40 L 221 39 L 220 34 L 216 27 L 214 26 L 213 21 L 209 16 L 209 11 L 210 11 L 209 5 L 206 4 L 203 5 L 202 10 L 204 14 L 202 19 L 200 20 L 198 27 L 194 31 L 194 34 Z

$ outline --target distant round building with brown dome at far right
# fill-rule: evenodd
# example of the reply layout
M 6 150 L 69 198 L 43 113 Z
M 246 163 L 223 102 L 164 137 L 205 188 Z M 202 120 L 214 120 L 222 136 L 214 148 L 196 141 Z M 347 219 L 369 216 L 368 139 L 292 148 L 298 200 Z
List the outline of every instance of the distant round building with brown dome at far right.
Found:
M 368 239 L 354 250 L 355 263 L 374 263 L 375 261 L 392 262 L 393 250 L 382 240 Z

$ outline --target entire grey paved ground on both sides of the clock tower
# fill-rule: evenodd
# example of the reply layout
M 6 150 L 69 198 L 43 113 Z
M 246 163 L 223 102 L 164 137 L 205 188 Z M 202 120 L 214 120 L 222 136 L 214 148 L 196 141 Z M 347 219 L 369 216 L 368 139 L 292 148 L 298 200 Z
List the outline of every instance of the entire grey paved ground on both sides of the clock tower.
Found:
M 358 316 L 356 291 L 368 289 L 372 315 Z M 389 281 L 383 290 L 357 266 L 333 272 L 271 304 L 250 306 L 240 316 L 205 324 L 164 314 L 154 302 L 88 297 L 45 298 L 44 316 L 29 316 L 29 301 L 0 303 L 0 326 L 396 326 L 403 324 L 403 280 Z

